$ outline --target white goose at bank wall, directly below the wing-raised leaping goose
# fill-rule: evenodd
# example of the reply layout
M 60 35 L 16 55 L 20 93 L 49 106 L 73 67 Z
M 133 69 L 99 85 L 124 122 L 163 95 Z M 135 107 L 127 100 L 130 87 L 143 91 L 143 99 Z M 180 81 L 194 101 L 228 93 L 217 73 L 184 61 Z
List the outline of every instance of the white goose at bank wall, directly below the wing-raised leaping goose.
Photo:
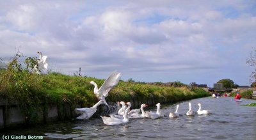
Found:
M 76 108 L 75 112 L 81 114 L 80 116 L 77 117 L 77 119 L 83 119 L 83 120 L 87 120 L 89 118 L 92 117 L 92 115 L 97 111 L 97 107 L 102 104 L 103 101 L 100 100 L 99 102 L 97 102 L 97 104 L 93 105 L 90 108 Z

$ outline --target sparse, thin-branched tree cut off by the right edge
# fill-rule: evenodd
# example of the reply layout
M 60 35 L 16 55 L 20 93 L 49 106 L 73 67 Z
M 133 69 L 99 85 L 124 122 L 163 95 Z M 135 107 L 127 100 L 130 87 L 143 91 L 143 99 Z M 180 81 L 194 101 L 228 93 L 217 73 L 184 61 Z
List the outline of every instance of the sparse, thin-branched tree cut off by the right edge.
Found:
M 252 79 L 250 79 L 250 81 L 256 81 L 256 48 L 253 47 L 252 48 L 253 51 L 250 53 L 250 58 L 246 59 L 246 63 L 250 66 L 254 67 L 254 72 L 252 72 L 252 74 L 250 75 L 250 77 L 252 77 Z

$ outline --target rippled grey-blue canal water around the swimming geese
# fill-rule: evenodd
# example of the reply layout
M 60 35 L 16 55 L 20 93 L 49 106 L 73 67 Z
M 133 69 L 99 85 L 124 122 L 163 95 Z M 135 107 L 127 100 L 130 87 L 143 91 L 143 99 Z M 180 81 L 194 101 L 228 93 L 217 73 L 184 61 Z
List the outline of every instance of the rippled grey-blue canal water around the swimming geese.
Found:
M 129 120 L 129 123 L 108 126 L 101 118 L 68 121 L 36 128 L 9 130 L 5 134 L 45 136 L 44 139 L 256 139 L 256 107 L 243 106 L 256 102 L 236 102 L 232 98 L 198 98 L 190 100 L 192 109 L 211 110 L 205 116 L 186 116 L 188 101 L 180 102 L 179 118 L 169 118 L 177 104 L 162 105 L 164 118 Z M 146 109 L 145 109 L 146 110 Z M 156 111 L 156 107 L 153 108 Z

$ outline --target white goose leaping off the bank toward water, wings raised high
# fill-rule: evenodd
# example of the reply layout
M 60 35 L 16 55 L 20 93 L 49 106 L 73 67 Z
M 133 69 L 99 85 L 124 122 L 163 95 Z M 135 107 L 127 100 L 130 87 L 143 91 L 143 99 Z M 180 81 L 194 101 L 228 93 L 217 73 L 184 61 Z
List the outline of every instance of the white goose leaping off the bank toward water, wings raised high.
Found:
M 104 83 L 100 86 L 98 89 L 98 86 L 95 82 L 91 81 L 90 84 L 94 85 L 94 94 L 98 98 L 98 100 L 102 100 L 104 104 L 108 105 L 106 102 L 106 97 L 108 97 L 109 91 L 119 82 L 121 77 L 120 72 L 112 72 L 111 75 L 109 75 L 108 79 L 104 81 Z

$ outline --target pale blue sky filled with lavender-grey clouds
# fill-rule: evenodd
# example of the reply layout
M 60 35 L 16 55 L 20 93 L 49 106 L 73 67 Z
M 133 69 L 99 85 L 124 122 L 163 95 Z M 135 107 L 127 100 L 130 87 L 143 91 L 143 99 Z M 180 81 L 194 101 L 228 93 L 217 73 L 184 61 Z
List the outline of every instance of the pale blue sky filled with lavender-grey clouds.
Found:
M 52 72 L 250 85 L 256 1 L 0 1 L 0 58 L 47 56 Z

